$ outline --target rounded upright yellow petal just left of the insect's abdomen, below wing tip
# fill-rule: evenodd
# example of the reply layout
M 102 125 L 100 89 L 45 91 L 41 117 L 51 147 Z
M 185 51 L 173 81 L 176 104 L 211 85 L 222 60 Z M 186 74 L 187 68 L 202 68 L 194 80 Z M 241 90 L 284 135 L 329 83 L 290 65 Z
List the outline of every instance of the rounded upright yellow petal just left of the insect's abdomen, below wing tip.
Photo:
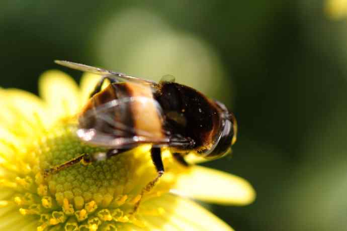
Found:
M 39 81 L 39 91 L 48 103 L 54 118 L 73 116 L 80 108 L 79 89 L 67 74 L 50 70 L 44 72 Z

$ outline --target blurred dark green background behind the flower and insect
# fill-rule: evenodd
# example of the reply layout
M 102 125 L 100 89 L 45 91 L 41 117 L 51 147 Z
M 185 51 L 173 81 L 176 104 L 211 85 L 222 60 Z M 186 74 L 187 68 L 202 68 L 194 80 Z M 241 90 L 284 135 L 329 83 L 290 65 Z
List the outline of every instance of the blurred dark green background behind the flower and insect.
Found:
M 346 0 L 0 0 L 0 86 L 37 93 L 52 68 L 79 80 L 54 59 L 174 75 L 238 120 L 233 155 L 204 165 L 257 199 L 210 209 L 236 230 L 346 230 L 346 20 Z

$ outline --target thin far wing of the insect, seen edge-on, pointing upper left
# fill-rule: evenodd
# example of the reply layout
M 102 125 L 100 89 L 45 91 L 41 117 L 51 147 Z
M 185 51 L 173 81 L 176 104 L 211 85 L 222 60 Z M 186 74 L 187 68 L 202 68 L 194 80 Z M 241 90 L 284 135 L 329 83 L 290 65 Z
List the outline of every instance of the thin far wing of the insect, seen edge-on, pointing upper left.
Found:
M 71 69 L 76 69 L 76 70 L 90 72 L 90 73 L 99 74 L 99 75 L 108 75 L 110 77 L 114 77 L 114 78 L 117 78 L 117 79 L 120 79 L 123 81 L 132 81 L 132 82 L 140 82 L 140 83 L 147 83 L 147 84 L 157 84 L 156 82 L 151 81 L 151 80 L 137 78 L 137 77 L 126 75 L 126 74 L 123 74 L 120 72 L 114 72 L 114 71 L 106 70 L 106 69 L 99 68 L 99 67 L 88 66 L 85 64 L 74 63 L 74 62 L 64 61 L 64 60 L 55 60 L 54 62 L 56 64 L 59 64 L 59 65 L 65 66 L 65 67 L 69 67 Z

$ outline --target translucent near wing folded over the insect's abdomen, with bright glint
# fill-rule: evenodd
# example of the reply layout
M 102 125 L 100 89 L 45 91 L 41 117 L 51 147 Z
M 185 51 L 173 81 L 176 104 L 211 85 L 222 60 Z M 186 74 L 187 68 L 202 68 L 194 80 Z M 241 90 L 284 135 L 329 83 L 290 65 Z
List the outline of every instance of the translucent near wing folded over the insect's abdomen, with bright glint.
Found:
M 150 130 L 137 129 L 131 124 L 133 118 L 129 114 L 129 108 L 134 103 L 144 107 L 149 103 L 154 105 L 158 120 L 163 120 L 161 107 L 154 99 L 147 97 L 114 99 L 83 112 L 79 117 L 77 136 L 90 144 L 112 148 L 129 148 L 143 143 L 168 145 L 170 139 L 166 131 L 160 131 L 161 134 L 158 136 Z M 151 125 L 150 121 L 148 123 Z

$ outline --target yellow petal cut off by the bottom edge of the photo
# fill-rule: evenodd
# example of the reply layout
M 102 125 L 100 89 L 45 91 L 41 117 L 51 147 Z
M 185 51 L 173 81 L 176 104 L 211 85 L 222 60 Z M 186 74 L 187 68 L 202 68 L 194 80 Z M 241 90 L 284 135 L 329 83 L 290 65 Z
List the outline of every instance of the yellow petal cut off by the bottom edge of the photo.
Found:
M 149 230 L 165 231 L 231 231 L 224 221 L 199 204 L 172 194 L 164 194 L 146 201 L 150 207 L 160 209 L 160 215 L 144 216 Z

